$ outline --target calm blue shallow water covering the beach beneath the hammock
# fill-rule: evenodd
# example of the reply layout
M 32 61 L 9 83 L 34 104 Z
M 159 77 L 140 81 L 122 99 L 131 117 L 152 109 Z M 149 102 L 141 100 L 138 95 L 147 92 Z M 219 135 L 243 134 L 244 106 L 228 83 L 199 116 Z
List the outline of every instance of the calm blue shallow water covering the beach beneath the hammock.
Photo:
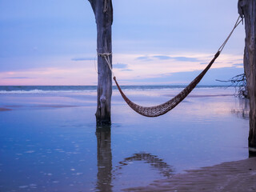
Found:
M 176 89 L 126 90 L 142 106 Z M 195 89 L 145 118 L 117 90 L 112 126 L 96 127 L 96 92 L 0 94 L 0 191 L 120 191 L 248 157 L 248 103 L 234 89 Z

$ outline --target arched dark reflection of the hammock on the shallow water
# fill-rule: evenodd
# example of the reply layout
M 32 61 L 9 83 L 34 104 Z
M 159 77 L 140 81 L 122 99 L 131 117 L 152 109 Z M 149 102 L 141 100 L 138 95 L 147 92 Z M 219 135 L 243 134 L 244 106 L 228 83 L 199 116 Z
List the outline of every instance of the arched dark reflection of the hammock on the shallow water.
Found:
M 174 174 L 174 170 L 171 168 L 171 166 L 169 166 L 166 162 L 163 162 L 161 158 L 158 158 L 156 155 L 147 153 L 134 154 L 130 158 L 125 158 L 124 161 L 119 162 L 119 165 L 115 167 L 113 172 L 117 173 L 118 170 L 121 170 L 123 166 L 129 165 L 129 162 L 133 161 L 143 161 L 150 164 L 150 166 L 157 169 L 159 173 L 166 178 L 170 178 L 170 176 Z

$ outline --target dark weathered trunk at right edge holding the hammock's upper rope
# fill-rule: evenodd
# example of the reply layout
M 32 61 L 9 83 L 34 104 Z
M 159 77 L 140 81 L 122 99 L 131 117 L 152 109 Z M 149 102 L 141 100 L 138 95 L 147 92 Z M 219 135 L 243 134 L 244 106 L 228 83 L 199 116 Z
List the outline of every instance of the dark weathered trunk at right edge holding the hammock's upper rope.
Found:
M 238 13 L 245 18 L 246 46 L 244 68 L 250 98 L 250 132 L 248 145 L 250 154 L 256 149 L 256 1 L 238 0 Z

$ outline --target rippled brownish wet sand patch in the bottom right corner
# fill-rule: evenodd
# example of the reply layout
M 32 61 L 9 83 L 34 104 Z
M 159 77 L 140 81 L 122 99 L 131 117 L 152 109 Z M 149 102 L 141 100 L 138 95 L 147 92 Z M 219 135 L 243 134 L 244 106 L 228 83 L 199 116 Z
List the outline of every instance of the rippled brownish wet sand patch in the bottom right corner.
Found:
M 256 191 L 256 158 L 189 170 L 125 191 Z

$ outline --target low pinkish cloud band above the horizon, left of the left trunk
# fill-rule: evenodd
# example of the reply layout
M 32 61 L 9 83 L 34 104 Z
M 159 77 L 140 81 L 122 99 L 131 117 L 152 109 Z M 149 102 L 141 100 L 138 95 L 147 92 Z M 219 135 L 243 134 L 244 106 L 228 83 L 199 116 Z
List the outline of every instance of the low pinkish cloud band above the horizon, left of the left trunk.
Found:
M 94 65 L 30 68 L 28 70 L 0 71 L 0 85 L 30 86 L 84 86 L 94 85 L 97 81 Z

